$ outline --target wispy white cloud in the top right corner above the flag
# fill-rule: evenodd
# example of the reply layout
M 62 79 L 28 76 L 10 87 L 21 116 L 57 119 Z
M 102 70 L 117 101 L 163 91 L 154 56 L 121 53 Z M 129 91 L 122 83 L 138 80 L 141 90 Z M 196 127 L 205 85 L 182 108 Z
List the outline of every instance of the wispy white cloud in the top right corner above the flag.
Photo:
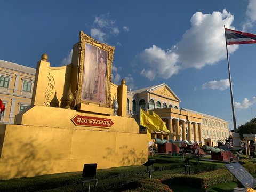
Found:
M 253 26 L 256 21 L 256 0 L 249 0 L 249 4 L 246 10 L 247 20 L 243 24 L 243 30 Z

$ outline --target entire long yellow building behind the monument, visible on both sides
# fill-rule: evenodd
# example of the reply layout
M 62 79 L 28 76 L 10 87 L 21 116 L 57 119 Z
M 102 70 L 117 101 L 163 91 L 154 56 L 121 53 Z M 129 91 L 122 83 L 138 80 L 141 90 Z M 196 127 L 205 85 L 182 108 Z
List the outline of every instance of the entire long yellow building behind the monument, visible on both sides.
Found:
M 0 99 L 6 110 L 0 124 L 13 124 L 14 117 L 31 105 L 36 69 L 0 60 Z M 155 132 L 153 137 L 172 139 L 177 143 L 196 141 L 217 145 L 217 140 L 229 136 L 228 122 L 218 117 L 180 108 L 181 100 L 166 84 L 127 91 L 127 117 L 139 124 L 140 108 L 154 110 L 170 130 Z M 119 103 L 120 105 L 120 103 Z M 141 127 L 141 133 L 146 129 Z

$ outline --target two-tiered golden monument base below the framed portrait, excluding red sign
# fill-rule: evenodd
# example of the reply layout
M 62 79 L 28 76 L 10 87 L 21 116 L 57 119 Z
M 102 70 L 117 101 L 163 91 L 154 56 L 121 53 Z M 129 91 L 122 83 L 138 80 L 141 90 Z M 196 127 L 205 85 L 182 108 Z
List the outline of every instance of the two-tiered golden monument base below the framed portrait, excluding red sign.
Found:
M 77 115 L 111 124 L 76 125 Z M 0 180 L 82 171 L 85 163 L 103 169 L 148 161 L 147 134 L 138 133 L 133 118 L 35 105 L 14 122 L 0 125 Z

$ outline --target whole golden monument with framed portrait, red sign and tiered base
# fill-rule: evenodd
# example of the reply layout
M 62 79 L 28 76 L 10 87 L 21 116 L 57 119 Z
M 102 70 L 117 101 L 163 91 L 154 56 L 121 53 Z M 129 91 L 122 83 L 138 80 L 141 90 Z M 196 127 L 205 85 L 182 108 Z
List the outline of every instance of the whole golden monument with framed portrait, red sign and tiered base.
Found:
M 0 179 L 142 165 L 148 159 L 146 134 L 126 117 L 127 86 L 111 83 L 114 47 L 82 31 L 72 62 L 37 63 L 31 106 L 0 125 Z M 114 115 L 113 101 L 118 103 Z

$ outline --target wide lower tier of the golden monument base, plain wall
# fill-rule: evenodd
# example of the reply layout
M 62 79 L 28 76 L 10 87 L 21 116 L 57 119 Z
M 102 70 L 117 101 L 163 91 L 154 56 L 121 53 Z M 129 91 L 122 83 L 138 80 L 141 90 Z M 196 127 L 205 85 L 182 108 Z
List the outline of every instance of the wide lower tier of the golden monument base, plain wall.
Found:
M 147 135 L 24 125 L 0 125 L 0 179 L 141 165 Z

